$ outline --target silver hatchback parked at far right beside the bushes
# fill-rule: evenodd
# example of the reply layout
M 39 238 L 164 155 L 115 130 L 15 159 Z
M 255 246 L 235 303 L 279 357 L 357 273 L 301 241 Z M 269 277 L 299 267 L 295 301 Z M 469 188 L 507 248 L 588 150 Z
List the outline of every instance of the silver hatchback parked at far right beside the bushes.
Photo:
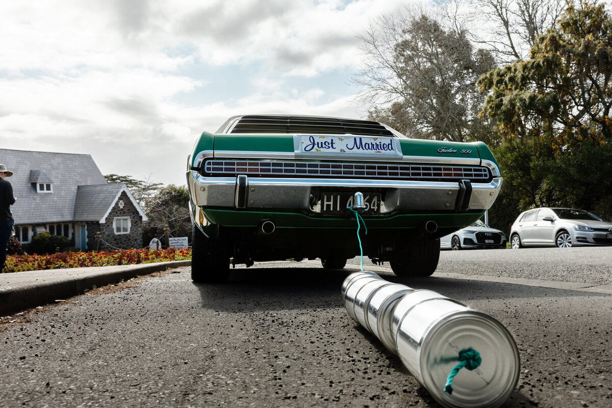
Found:
M 522 212 L 514 221 L 510 245 L 512 249 L 612 245 L 612 223 L 584 210 L 537 208 Z

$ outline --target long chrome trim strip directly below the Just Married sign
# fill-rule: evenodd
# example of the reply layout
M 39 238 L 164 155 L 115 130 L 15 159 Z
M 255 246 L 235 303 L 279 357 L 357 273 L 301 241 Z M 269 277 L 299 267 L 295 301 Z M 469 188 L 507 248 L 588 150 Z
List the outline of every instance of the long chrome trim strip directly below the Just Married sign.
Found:
M 198 155 L 198 158 L 200 156 Z M 244 150 L 224 150 L 223 152 L 215 152 L 215 158 L 258 158 L 262 160 L 266 159 L 280 159 L 280 160 L 335 160 L 335 161 L 346 161 L 344 157 L 338 157 L 338 155 L 321 154 L 316 155 L 296 155 L 291 152 L 247 152 Z M 407 163 L 435 163 L 439 165 L 477 165 L 481 164 L 480 158 L 461 158 L 461 157 L 431 157 L 431 156 L 403 156 L 403 157 L 384 157 L 384 160 L 376 160 L 377 157 L 353 157 L 351 156 L 350 161 L 384 161 L 384 162 L 407 162 Z M 382 158 L 382 157 L 381 157 Z M 489 162 L 491 163 L 491 162 Z M 492 165 L 493 163 L 491 163 Z M 490 166 L 488 166 L 490 167 Z

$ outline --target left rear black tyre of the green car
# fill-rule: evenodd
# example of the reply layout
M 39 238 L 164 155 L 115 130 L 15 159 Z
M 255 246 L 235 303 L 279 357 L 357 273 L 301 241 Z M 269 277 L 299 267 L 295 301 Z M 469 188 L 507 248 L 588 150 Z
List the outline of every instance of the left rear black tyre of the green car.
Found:
M 195 225 L 192 228 L 192 281 L 196 283 L 219 283 L 230 277 L 230 254 L 219 237 L 205 236 Z

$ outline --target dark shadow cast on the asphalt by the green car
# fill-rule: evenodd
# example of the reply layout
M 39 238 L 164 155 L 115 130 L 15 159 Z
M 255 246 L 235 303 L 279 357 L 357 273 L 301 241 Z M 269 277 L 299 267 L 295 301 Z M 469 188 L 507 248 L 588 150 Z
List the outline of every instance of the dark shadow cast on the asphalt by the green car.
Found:
M 249 268 L 231 270 L 230 280 L 196 284 L 203 308 L 217 311 L 261 311 L 303 308 L 344 308 L 340 299 L 343 281 L 355 270 L 322 268 Z M 487 299 L 537 299 L 604 294 L 552 289 L 524 284 L 442 277 L 401 278 L 383 273 L 384 280 L 414 289 L 430 289 L 460 302 Z

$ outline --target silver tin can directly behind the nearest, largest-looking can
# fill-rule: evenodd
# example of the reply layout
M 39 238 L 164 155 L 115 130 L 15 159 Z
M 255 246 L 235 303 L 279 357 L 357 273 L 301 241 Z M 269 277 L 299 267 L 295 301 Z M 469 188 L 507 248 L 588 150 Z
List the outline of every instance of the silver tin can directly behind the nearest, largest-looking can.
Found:
M 397 353 L 395 338 L 391 332 L 391 318 L 394 307 L 402 297 L 414 291 L 409 286 L 392 283 L 381 286 L 371 295 L 368 300 L 365 323 L 370 332 L 378 337 L 389 351 Z

